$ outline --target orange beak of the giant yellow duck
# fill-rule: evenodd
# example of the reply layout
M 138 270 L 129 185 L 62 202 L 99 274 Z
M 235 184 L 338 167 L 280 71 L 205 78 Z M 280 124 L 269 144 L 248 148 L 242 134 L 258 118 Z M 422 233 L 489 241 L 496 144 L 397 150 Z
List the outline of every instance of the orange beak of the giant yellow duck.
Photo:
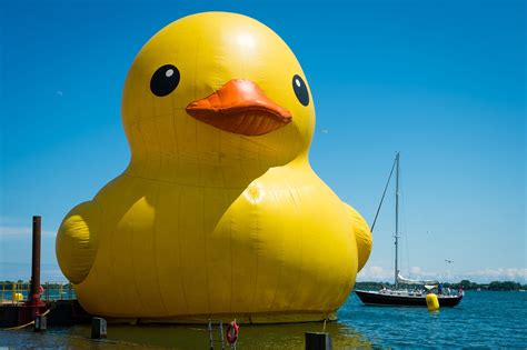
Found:
M 205 99 L 190 102 L 187 113 L 218 129 L 259 136 L 288 124 L 291 112 L 271 101 L 250 80 L 233 79 Z

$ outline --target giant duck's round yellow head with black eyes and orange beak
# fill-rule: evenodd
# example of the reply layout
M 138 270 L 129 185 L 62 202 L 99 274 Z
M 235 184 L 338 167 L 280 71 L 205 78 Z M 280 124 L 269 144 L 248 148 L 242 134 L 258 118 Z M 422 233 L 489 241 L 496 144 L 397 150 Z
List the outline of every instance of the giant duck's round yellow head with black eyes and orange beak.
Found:
M 205 12 L 145 44 L 127 77 L 122 119 L 132 161 L 279 166 L 307 156 L 315 108 L 300 64 L 272 30 Z

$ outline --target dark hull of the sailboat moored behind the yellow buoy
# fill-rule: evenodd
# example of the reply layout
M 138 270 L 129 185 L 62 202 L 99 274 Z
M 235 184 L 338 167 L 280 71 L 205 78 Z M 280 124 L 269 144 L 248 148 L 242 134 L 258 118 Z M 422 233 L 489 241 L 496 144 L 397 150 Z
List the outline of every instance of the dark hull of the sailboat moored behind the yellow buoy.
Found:
M 398 291 L 355 291 L 359 299 L 367 306 L 404 306 L 426 307 L 426 294 L 407 293 Z M 457 306 L 463 296 L 437 296 L 439 307 L 453 308 Z

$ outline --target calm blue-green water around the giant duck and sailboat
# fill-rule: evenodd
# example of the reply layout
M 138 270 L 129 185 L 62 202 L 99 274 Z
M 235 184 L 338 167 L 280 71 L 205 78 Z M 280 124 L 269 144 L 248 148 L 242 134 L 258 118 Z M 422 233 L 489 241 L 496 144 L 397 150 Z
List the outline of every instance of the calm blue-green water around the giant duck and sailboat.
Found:
M 322 323 L 241 326 L 238 349 L 304 349 L 306 331 Z M 527 348 L 527 292 L 467 292 L 454 309 L 364 307 L 352 294 L 327 324 L 335 349 L 346 348 Z M 108 339 L 89 340 L 90 328 L 0 331 L 2 347 L 128 349 L 129 347 L 207 349 L 206 327 L 115 326 Z M 216 337 L 217 333 L 215 333 Z M 219 347 L 217 347 L 219 349 Z

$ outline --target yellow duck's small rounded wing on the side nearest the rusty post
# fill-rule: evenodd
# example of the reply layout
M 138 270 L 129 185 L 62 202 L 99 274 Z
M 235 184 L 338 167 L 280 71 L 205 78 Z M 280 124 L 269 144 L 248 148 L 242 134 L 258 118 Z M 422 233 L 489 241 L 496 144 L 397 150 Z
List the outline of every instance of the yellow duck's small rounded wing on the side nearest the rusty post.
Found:
M 80 203 L 62 220 L 56 252 L 62 273 L 71 282 L 82 282 L 90 272 L 100 228 L 101 211 L 95 201 Z

